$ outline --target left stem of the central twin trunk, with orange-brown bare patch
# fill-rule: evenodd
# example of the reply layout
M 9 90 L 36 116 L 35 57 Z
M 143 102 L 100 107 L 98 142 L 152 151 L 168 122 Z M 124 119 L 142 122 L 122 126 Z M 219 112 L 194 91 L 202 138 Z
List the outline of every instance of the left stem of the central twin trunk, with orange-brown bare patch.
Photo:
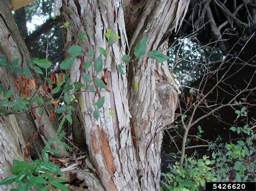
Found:
M 72 8 L 74 6 L 72 1 L 70 1 L 71 3 L 63 2 L 65 7 L 69 7 L 72 11 L 76 10 Z M 93 8 L 93 10 L 89 7 Z M 79 95 L 79 107 L 83 114 L 82 121 L 86 144 L 91 160 L 107 190 L 113 190 L 114 188 L 118 190 L 137 190 L 139 189 L 139 184 L 136 158 L 134 157 L 130 135 L 127 80 L 126 76 L 118 73 L 116 68 L 121 63 L 122 55 L 125 54 L 127 48 L 125 24 L 124 20 L 120 19 L 124 18 L 122 3 L 117 0 L 111 3 L 109 1 L 85 1 L 83 3 L 80 2 L 80 8 L 87 11 L 84 11 L 84 15 L 81 17 L 71 18 L 76 14 L 69 12 L 65 12 L 65 15 L 70 16 L 67 20 L 82 19 L 84 21 L 80 22 L 84 23 L 83 26 L 76 26 L 82 31 L 87 32 L 88 38 L 84 41 L 84 51 L 94 49 L 96 53 L 95 58 L 97 58 L 100 55 L 98 48 L 103 47 L 106 49 L 107 58 L 103 57 L 106 70 L 98 74 L 97 77 L 100 78 L 104 75 L 107 89 L 110 90 L 110 93 L 104 89 L 98 89 L 98 93 L 92 92 Z M 71 23 L 71 26 L 76 24 Z M 106 28 L 111 29 L 115 34 L 120 33 L 121 38 L 119 40 L 113 39 L 112 46 L 108 45 L 105 38 Z M 70 41 L 69 43 L 74 44 L 76 42 Z M 83 57 L 84 60 L 90 59 L 85 54 Z M 71 74 L 77 72 L 72 71 L 74 70 L 73 68 L 71 68 Z M 92 68 L 84 72 L 95 75 L 95 71 Z M 80 82 L 85 83 L 83 79 L 80 79 Z M 88 108 L 102 96 L 105 96 L 104 109 L 100 110 L 100 118 L 98 121 L 95 121 L 93 117 L 87 115 Z M 109 115 L 109 109 L 113 110 L 112 117 Z M 103 139 L 106 141 L 104 145 L 109 146 L 100 149 L 100 140 Z M 109 166 L 109 163 L 113 166 Z

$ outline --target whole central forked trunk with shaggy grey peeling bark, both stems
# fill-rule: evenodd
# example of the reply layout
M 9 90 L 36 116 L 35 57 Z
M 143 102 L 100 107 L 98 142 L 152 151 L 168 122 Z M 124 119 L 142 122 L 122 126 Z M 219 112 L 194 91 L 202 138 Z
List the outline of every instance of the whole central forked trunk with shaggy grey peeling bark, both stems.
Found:
M 78 44 L 84 31 L 87 39 L 83 54 L 70 69 L 72 82 L 82 82 L 82 72 L 104 79 L 107 90 L 96 89 L 78 95 L 76 117 L 84 131 L 92 164 L 107 190 L 159 190 L 162 130 L 173 122 L 177 94 L 167 62 L 156 63 L 147 57 L 134 60 L 125 67 L 125 75 L 117 72 L 124 54 L 132 54 L 134 46 L 147 36 L 146 54 L 152 49 L 167 51 L 167 32 L 178 28 L 187 10 L 183 1 L 62 1 L 67 46 Z M 121 38 L 109 46 L 106 28 Z M 84 69 L 89 60 L 86 52 L 106 49 L 104 72 Z M 105 96 L 104 109 L 96 121 L 89 108 Z M 113 115 L 110 116 L 110 109 Z

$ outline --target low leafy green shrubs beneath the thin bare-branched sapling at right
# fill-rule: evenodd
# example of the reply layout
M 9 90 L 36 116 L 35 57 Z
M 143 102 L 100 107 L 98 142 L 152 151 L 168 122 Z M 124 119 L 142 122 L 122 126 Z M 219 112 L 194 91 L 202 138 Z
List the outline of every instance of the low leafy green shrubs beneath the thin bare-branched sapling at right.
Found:
M 246 117 L 246 108 L 236 110 L 237 119 Z M 204 188 L 205 182 L 255 182 L 255 122 L 232 126 L 231 133 L 237 133 L 238 139 L 227 143 L 218 140 L 209 145 L 208 153 L 198 159 L 185 157 L 183 166 L 179 162 L 169 165 L 170 172 L 162 173 L 162 190 L 198 190 Z M 199 131 L 201 128 L 199 129 Z M 174 155 L 174 158 L 177 154 Z

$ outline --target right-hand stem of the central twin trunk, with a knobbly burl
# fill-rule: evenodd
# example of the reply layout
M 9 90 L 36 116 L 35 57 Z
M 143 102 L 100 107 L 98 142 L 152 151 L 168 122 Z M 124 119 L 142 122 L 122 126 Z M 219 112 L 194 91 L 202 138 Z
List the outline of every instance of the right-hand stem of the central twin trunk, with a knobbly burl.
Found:
M 137 25 L 130 45 L 134 46 L 142 36 L 146 36 L 146 55 L 152 49 L 166 53 L 161 42 L 169 27 L 175 25 L 174 21 L 179 22 L 183 18 L 187 1 L 158 1 L 154 7 L 150 3 L 152 1 L 148 2 L 148 11 L 144 11 L 142 16 L 147 25 Z M 152 8 L 153 11 L 150 11 Z M 139 178 L 143 190 L 159 189 L 161 129 L 173 122 L 176 109 L 177 94 L 167 68 L 167 62 L 157 63 L 146 58 L 140 58 L 129 68 L 133 76 L 130 82 L 130 109 L 138 139 Z M 155 78 L 155 71 L 161 75 L 161 80 Z M 134 83 L 137 84 L 136 89 Z

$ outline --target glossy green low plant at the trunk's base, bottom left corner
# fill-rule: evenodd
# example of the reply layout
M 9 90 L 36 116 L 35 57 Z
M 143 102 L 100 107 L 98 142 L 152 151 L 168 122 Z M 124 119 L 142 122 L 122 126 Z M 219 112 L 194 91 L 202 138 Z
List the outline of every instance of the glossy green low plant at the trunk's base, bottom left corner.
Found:
M 69 190 L 63 185 L 66 180 L 58 178 L 62 175 L 59 167 L 49 161 L 49 153 L 58 152 L 50 147 L 55 141 L 56 139 L 52 138 L 45 145 L 42 151 L 43 160 L 36 159 L 32 162 L 14 160 L 14 166 L 10 169 L 12 175 L 0 181 L 0 186 L 16 183 L 17 189 L 12 188 L 11 191 L 25 191 L 35 188 L 43 191 L 55 188 Z

